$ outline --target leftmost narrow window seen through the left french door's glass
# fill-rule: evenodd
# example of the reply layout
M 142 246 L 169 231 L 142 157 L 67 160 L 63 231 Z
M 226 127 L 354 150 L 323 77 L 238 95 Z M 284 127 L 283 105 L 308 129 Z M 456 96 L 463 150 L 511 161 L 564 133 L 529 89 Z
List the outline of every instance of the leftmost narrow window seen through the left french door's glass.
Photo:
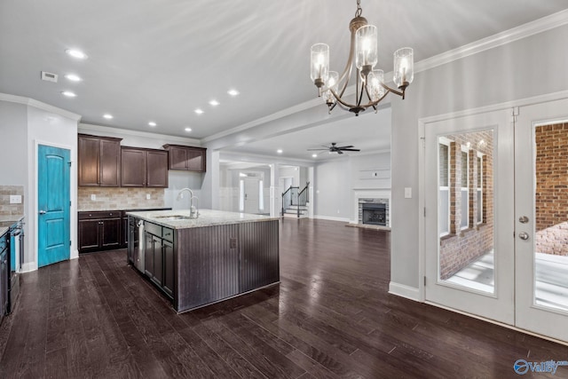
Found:
M 438 229 L 440 237 L 450 233 L 450 146 L 449 140 L 440 138 L 438 145 Z

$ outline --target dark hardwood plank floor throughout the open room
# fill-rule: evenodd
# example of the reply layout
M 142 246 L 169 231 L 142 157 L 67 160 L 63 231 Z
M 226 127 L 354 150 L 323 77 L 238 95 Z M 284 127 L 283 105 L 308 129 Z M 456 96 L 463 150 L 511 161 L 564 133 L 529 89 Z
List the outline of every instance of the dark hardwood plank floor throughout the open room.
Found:
M 280 227 L 280 285 L 194 312 L 173 312 L 125 250 L 24 274 L 0 377 L 514 378 L 517 359 L 568 360 L 564 345 L 389 295 L 388 232 Z

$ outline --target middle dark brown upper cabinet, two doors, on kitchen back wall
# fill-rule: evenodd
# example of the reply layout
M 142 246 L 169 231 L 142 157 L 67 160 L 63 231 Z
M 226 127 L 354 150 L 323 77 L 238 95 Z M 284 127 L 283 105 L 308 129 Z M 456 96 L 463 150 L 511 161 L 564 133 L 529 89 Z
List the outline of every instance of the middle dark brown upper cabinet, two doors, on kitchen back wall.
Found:
M 168 152 L 122 147 L 123 187 L 168 187 Z

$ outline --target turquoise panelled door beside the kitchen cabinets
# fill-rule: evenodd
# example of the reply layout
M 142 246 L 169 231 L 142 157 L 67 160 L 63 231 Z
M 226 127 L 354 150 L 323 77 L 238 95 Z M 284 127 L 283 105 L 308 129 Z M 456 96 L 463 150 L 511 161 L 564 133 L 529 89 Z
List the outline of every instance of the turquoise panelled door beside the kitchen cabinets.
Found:
M 37 260 L 39 267 L 70 257 L 69 150 L 38 146 Z

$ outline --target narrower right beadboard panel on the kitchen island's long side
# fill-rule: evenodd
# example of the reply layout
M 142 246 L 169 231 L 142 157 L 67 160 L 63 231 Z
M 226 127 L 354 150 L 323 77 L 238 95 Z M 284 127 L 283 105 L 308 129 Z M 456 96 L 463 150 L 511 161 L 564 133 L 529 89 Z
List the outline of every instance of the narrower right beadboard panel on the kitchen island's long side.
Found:
M 240 224 L 239 293 L 280 281 L 279 221 Z

